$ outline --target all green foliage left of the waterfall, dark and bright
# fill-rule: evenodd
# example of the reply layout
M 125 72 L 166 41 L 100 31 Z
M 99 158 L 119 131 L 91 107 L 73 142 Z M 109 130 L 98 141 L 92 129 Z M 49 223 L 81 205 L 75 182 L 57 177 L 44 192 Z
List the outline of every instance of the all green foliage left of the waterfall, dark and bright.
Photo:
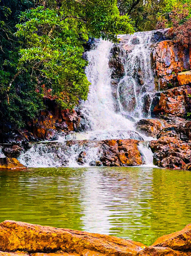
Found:
M 63 108 L 87 99 L 89 37 L 117 42 L 118 34 L 134 31 L 115 0 L 4 0 L 0 6 L 0 115 L 17 126 L 43 108 L 43 96 Z

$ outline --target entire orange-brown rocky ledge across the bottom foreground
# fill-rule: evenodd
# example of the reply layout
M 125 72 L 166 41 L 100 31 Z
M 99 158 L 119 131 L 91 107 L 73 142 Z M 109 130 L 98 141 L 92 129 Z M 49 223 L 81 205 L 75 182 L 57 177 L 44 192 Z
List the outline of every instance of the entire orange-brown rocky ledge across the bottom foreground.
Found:
M 0 223 L 0 256 L 191 256 L 191 224 L 149 247 L 129 239 L 39 226 Z

